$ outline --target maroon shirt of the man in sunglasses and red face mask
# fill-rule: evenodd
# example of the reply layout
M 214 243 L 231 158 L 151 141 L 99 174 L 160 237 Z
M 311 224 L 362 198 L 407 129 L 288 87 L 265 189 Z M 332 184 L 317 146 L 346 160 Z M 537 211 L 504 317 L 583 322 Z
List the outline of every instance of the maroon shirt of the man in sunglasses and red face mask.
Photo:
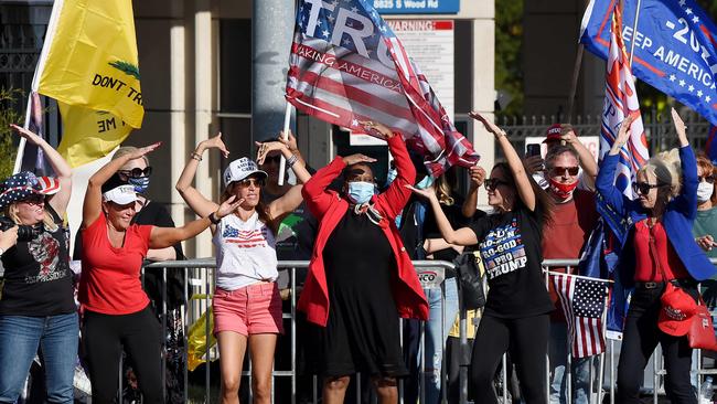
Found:
M 572 200 L 557 203 L 553 208 L 553 221 L 543 228 L 543 258 L 545 259 L 578 259 L 582 245 L 590 237 L 590 232 L 598 222 L 595 193 L 575 190 Z M 552 272 L 565 273 L 566 267 L 552 267 Z M 578 267 L 570 267 L 571 274 L 578 273 Z M 555 285 L 548 283 L 550 300 L 557 308 L 550 311 L 550 320 L 565 322 L 565 313 L 560 299 L 555 291 Z

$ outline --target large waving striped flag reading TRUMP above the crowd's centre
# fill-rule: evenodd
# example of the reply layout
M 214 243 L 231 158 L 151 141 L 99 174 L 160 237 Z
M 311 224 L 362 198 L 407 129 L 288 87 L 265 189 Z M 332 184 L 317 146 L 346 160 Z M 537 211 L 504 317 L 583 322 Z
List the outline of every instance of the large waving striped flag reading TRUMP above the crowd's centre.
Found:
M 363 132 L 374 120 L 400 132 L 435 176 L 479 156 L 426 77 L 367 0 L 300 0 L 287 99 L 298 109 Z

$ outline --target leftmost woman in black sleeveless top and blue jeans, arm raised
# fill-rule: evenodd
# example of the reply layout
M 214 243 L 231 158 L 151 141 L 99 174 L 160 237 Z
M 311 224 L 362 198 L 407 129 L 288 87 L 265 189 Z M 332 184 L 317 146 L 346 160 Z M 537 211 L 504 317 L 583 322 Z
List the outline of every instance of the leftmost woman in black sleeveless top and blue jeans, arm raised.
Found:
M 72 192 L 67 162 L 44 139 L 11 125 L 45 155 L 57 177 L 22 171 L 0 183 L 0 403 L 14 403 L 40 349 L 47 401 L 73 402 L 78 320 L 64 215 Z M 20 226 L 20 227 L 19 227 Z M 19 232 L 19 228 L 20 232 Z

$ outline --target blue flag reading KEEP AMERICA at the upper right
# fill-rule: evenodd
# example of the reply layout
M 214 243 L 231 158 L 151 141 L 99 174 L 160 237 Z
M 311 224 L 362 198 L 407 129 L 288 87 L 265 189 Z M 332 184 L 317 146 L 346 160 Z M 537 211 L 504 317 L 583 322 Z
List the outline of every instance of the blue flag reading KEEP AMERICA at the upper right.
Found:
M 610 21 L 618 0 L 592 0 L 582 18 L 580 42 L 608 57 Z M 717 26 L 694 0 L 625 1 L 622 38 L 634 41 L 633 74 L 717 125 Z

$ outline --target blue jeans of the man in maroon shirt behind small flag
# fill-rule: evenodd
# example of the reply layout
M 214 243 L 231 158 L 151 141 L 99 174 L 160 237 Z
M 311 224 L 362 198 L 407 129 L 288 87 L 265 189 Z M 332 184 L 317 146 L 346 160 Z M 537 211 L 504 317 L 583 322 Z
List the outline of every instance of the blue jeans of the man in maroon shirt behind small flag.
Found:
M 550 322 L 550 404 L 565 404 L 567 400 L 567 378 L 565 371 L 568 360 L 568 326 L 565 322 Z M 590 402 L 590 358 L 571 358 L 572 403 Z

